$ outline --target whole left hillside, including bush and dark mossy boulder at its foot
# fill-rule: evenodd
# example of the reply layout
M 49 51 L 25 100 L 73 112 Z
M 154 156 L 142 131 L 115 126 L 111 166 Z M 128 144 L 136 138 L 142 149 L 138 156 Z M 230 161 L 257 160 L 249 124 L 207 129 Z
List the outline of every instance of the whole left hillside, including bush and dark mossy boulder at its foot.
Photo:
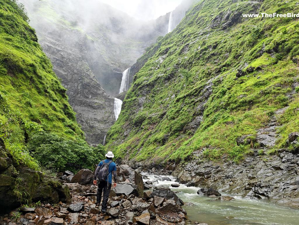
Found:
M 21 203 L 69 200 L 40 172 L 93 168 L 103 146 L 89 147 L 66 89 L 37 43 L 18 1 L 0 0 L 0 211 Z

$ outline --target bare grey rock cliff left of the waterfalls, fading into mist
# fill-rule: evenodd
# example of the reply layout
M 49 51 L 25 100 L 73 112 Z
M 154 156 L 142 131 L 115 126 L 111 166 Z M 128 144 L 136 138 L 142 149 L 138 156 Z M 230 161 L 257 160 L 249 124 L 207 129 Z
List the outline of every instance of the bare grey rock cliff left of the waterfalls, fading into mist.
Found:
M 60 32 L 62 29 L 63 34 Z M 86 56 L 82 54 L 94 42 L 86 35 L 65 27 L 47 27 L 40 32 L 43 36 L 39 43 L 67 89 L 68 101 L 76 112 L 86 141 L 93 145 L 103 143 L 104 136 L 115 122 L 114 98 L 100 86 Z M 74 35 L 76 39 L 70 38 Z

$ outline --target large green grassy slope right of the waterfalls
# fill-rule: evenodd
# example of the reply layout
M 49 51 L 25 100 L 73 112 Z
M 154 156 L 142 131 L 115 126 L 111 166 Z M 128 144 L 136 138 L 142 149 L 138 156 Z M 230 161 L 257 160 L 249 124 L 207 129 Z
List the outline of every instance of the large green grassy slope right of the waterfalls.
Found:
M 298 95 L 287 96 L 298 82 L 299 21 L 242 13 L 298 11 L 292 0 L 199 1 L 135 75 L 108 148 L 140 161 L 184 159 L 207 147 L 210 159 L 241 161 L 251 150 L 236 138 L 256 134 L 289 105 L 274 149 L 285 146 L 299 125 Z

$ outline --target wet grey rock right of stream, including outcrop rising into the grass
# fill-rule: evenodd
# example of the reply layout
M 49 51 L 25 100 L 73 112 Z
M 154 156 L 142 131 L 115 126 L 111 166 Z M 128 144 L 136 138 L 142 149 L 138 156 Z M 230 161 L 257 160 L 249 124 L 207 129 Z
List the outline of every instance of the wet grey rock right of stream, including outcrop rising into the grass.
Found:
M 240 164 L 202 160 L 201 150 L 194 152 L 194 159 L 183 168 L 177 167 L 172 175 L 187 186 L 213 187 L 232 195 L 270 199 L 298 207 L 299 152 L 283 148 L 278 149 L 277 154 L 265 154 L 279 138 L 277 129 L 280 125 L 276 117 L 282 115 L 287 108 L 276 110 L 269 123 L 257 130 L 255 138 L 254 135 L 237 138 L 237 144 L 250 144 L 253 151 Z M 298 137 L 297 132 L 290 133 L 288 144 L 297 142 Z M 256 146 L 253 146 L 254 143 L 259 147 L 253 148 Z

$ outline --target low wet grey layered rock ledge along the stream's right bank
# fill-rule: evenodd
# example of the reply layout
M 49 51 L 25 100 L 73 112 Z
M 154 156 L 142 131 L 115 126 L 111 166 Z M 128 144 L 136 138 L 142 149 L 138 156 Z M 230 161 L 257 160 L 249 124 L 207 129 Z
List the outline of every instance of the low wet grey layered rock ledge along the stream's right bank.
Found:
M 241 164 L 210 161 L 198 164 L 194 159 L 183 169 L 174 171 L 173 175 L 187 186 L 213 187 L 231 195 L 274 202 L 283 200 L 286 205 L 298 207 L 299 203 L 295 200 L 299 197 L 298 162 L 299 154 L 286 149 L 270 156 L 260 156 L 259 150 L 254 150 L 254 155 L 245 158 Z

